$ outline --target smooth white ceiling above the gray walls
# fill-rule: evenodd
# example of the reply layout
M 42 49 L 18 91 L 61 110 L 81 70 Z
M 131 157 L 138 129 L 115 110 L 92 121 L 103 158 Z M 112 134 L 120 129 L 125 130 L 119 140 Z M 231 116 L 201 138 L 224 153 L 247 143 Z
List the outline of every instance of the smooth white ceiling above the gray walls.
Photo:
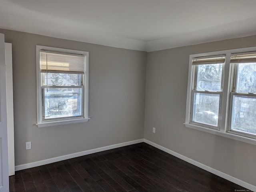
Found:
M 256 0 L 0 0 L 0 28 L 156 51 L 256 34 Z

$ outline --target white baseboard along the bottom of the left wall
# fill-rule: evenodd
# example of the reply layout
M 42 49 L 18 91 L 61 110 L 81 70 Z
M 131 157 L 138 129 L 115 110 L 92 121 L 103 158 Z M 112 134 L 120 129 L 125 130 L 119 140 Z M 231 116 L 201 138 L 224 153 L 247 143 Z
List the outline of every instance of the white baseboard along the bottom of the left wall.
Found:
M 63 161 L 63 160 L 71 159 L 71 158 L 74 158 L 74 157 L 80 157 L 80 156 L 83 156 L 83 155 L 89 155 L 89 154 L 92 154 L 92 153 L 97 153 L 97 152 L 106 151 L 106 150 L 109 150 L 109 149 L 115 149 L 115 148 L 118 148 L 118 147 L 124 147 L 124 146 L 127 146 L 127 145 L 133 145 L 133 144 L 142 143 L 142 142 L 144 142 L 144 139 L 138 139 L 138 140 L 134 140 L 134 141 L 118 143 L 118 144 L 115 144 L 115 145 L 109 145 L 109 146 L 106 146 L 106 147 L 100 147 L 100 148 L 96 148 L 96 149 L 90 149 L 90 150 L 87 150 L 87 151 L 81 151 L 81 152 L 78 152 L 78 153 L 72 153 L 72 154 L 69 154 L 69 155 L 63 155 L 63 156 L 60 156 L 60 157 L 54 157 L 54 158 L 51 158 L 51 159 L 45 159 L 45 160 L 42 160 L 42 161 L 26 163 L 26 164 L 23 164 L 23 165 L 17 165 L 17 166 L 15 166 L 15 171 L 26 169 L 26 168 L 38 167 L 38 166 L 46 165 L 46 164 L 49 164 L 49 163 L 55 163 L 55 162 L 58 162 L 58 161 Z

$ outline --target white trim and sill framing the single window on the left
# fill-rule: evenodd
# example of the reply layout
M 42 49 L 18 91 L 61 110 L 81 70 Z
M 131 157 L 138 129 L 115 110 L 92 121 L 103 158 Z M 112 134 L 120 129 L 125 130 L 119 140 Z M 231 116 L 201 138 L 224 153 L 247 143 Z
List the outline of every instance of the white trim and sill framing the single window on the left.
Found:
M 85 72 L 84 72 L 84 116 L 79 118 L 69 118 L 68 120 L 42 120 L 42 88 L 41 88 L 41 72 L 40 72 L 40 50 L 55 51 L 62 53 L 72 53 L 85 55 Z M 37 123 L 38 127 L 49 127 L 55 125 L 65 125 L 71 123 L 82 123 L 90 120 L 88 117 L 88 87 L 89 87 L 89 52 L 77 51 L 71 49 L 62 49 L 56 47 L 47 47 L 36 45 L 36 83 L 37 83 Z

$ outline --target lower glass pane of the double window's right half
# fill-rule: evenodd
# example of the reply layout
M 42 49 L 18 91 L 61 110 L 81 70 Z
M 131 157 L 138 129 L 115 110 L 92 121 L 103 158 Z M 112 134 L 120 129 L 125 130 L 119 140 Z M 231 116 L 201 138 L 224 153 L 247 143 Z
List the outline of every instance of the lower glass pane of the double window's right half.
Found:
M 256 97 L 233 96 L 231 130 L 256 135 Z

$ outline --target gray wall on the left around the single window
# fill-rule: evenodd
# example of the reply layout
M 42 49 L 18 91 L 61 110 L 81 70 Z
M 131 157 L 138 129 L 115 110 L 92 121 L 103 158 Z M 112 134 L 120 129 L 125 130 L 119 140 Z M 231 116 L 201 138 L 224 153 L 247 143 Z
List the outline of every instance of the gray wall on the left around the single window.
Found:
M 143 138 L 146 52 L 0 29 L 12 43 L 15 165 Z M 89 120 L 38 128 L 36 45 L 89 51 Z M 32 149 L 25 150 L 25 142 Z

